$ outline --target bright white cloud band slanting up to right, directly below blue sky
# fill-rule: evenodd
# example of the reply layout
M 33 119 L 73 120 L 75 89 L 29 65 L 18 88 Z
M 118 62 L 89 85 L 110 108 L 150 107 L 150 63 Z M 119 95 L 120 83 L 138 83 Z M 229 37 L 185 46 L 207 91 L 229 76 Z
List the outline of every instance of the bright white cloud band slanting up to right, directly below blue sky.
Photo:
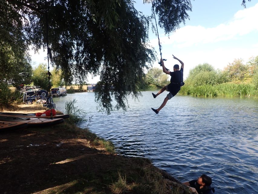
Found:
M 237 35 L 258 31 L 256 18 L 258 18 L 258 3 L 251 8 L 238 11 L 227 23 L 213 28 L 188 25 L 178 29 L 170 38 L 161 37 L 160 40 L 163 45 L 176 44 L 178 48 L 229 40 Z M 151 40 L 153 45 L 156 42 L 157 39 Z

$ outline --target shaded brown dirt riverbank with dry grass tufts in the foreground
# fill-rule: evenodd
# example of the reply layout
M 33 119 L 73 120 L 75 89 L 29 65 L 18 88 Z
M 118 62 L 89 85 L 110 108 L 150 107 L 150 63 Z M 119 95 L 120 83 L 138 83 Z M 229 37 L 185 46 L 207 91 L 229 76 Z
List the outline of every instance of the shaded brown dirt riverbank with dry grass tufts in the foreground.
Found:
M 38 106 L 31 106 L 31 110 L 28 107 L 19 112 L 44 111 Z M 67 120 L 59 125 L 0 135 L 0 187 L 5 194 L 176 194 L 184 188 L 179 181 L 152 166 L 148 159 L 107 152 L 95 134 Z M 164 176 L 174 186 L 169 186 Z

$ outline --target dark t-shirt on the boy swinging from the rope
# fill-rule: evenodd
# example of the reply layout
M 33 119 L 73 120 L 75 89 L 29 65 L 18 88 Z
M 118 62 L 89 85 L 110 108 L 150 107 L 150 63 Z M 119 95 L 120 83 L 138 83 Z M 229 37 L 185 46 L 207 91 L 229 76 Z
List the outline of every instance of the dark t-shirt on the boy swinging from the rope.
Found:
M 170 72 L 170 84 L 168 84 L 168 91 L 175 96 L 180 90 L 180 83 L 183 82 L 183 71 L 181 68 L 179 71 Z

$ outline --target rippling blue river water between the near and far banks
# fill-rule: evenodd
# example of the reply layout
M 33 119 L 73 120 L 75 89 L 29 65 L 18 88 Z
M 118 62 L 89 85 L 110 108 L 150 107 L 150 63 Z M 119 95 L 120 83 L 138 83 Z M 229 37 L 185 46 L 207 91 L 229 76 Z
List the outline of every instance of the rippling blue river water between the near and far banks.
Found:
M 98 112 L 93 92 L 54 102 L 65 112 L 65 102 L 76 99 L 75 105 L 92 116 L 90 130 L 111 140 L 119 154 L 149 158 L 181 182 L 207 174 L 215 193 L 257 193 L 258 99 L 176 95 L 156 115 L 151 107 L 157 109 L 167 92 L 156 99 L 152 92 L 142 92 L 139 101 L 129 99 L 127 112 L 111 115 Z

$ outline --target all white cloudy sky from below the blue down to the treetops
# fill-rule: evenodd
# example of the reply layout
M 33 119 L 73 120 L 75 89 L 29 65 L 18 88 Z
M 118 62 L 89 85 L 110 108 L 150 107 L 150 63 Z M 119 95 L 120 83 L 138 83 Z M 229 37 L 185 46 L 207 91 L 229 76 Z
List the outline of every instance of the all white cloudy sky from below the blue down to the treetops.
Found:
M 168 59 L 165 66 L 171 69 L 178 63 L 172 54 L 185 63 L 184 79 L 189 70 L 205 62 L 215 69 L 224 69 L 234 59 L 247 62 L 250 57 L 258 55 L 258 3 L 243 9 L 232 19 L 212 28 L 204 26 L 185 26 L 168 37 L 161 37 L 162 57 Z M 249 34 L 250 33 L 250 34 Z M 247 37 L 250 37 L 247 42 Z M 233 41 L 232 41 L 233 40 Z M 158 39 L 151 40 L 158 51 Z M 158 52 L 159 53 L 159 52 Z M 159 67 L 153 64 L 153 67 Z

